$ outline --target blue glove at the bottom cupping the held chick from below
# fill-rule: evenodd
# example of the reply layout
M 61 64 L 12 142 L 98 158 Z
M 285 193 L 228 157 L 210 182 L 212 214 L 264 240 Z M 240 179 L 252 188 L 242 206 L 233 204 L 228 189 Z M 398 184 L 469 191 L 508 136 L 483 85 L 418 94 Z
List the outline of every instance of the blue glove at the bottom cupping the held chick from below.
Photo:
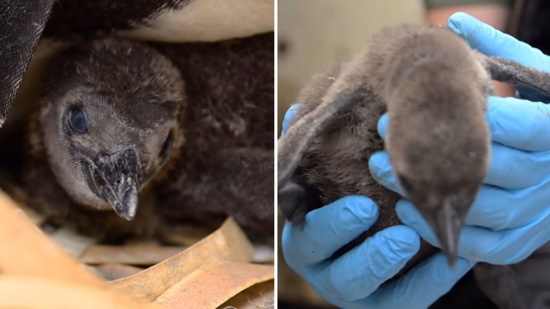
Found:
M 288 128 L 293 107 L 283 121 Z M 368 230 L 378 208 L 364 196 L 349 196 L 306 215 L 303 228 L 285 223 L 285 260 L 318 295 L 340 308 L 427 308 L 470 270 L 474 262 L 459 258 L 455 269 L 437 254 L 399 280 L 392 278 L 420 247 L 419 235 L 398 225 L 378 232 L 333 262 L 326 259 Z

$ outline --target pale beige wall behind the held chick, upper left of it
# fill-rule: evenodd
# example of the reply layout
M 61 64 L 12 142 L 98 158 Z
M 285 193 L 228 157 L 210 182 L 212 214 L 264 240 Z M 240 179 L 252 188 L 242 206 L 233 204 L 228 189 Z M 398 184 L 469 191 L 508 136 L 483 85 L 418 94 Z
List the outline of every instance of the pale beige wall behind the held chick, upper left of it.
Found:
M 279 0 L 279 124 L 311 75 L 359 51 L 382 27 L 422 23 L 424 12 L 422 0 Z

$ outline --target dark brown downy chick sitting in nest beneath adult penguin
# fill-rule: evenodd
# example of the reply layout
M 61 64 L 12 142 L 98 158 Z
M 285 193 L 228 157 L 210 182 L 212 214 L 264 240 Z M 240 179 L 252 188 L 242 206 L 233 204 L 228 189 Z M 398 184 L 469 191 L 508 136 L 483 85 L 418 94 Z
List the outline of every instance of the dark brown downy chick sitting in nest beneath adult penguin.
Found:
M 74 106 L 86 133 L 71 127 Z M 158 236 L 213 213 L 268 240 L 273 118 L 273 34 L 155 46 L 111 38 L 71 48 L 52 68 L 29 128 L 29 205 L 103 238 Z M 116 157 L 121 150 L 131 156 Z M 134 216 L 113 212 L 101 175 L 81 160 L 95 162 L 115 189 L 125 184 L 108 175 L 135 165 Z

